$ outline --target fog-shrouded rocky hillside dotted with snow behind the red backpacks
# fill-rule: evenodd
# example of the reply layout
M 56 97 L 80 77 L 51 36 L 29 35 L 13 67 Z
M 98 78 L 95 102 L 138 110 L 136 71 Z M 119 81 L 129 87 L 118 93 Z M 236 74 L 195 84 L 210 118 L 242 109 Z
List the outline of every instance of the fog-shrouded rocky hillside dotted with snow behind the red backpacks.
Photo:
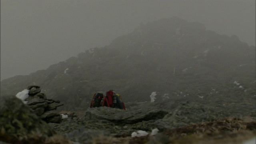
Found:
M 237 36 L 217 34 L 197 22 L 161 19 L 46 70 L 2 80 L 0 92 L 15 95 L 40 85 L 66 110 L 87 108 L 95 91 L 113 89 L 124 102 L 150 101 L 156 92 L 156 100 L 239 104 L 252 112 L 255 50 Z

